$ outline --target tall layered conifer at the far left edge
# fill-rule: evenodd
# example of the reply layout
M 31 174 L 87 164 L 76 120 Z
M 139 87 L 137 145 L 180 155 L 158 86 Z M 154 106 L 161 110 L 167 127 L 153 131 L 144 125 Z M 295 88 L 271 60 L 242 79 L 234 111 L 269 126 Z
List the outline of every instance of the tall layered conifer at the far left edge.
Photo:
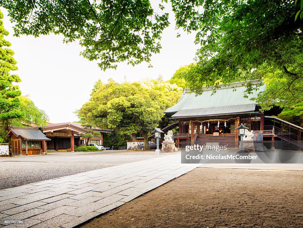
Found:
M 13 58 L 15 54 L 7 47 L 11 43 L 4 39 L 8 31 L 3 27 L 3 14 L 0 11 L 0 142 L 4 141 L 4 135 L 14 119 L 20 119 L 24 116 L 20 108 L 21 91 L 15 82 L 20 82 L 16 74 L 10 74 L 10 71 L 18 70 L 16 61 Z

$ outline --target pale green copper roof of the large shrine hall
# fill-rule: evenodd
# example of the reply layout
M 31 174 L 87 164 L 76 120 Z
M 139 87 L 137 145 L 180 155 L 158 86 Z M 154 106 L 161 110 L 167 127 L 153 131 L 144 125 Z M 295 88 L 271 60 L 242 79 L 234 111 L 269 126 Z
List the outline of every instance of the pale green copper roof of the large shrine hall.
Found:
M 255 84 L 257 83 L 258 82 L 255 81 Z M 233 87 L 236 87 L 236 91 L 233 91 L 235 89 Z M 223 114 L 223 113 L 231 113 L 228 111 L 229 109 L 228 107 L 230 106 L 234 107 L 232 108 L 233 110 L 230 111 L 235 111 L 235 112 L 252 111 L 251 109 L 253 106 L 255 106 L 255 102 L 249 99 L 252 97 L 256 97 L 260 91 L 265 91 L 266 84 L 262 85 L 258 91 L 254 90 L 252 94 L 248 94 L 248 98 L 243 97 L 245 89 L 246 89 L 245 86 L 241 86 L 241 83 L 234 83 L 231 85 L 231 87 L 218 89 L 217 92 L 213 95 L 211 95 L 213 92 L 211 89 L 205 88 L 203 94 L 198 96 L 195 96 L 196 95 L 195 93 L 190 93 L 189 89 L 185 89 L 178 103 L 166 109 L 165 113 L 176 113 L 180 111 L 180 113 L 177 114 L 176 117 L 177 116 L 181 117 L 182 115 L 191 116 L 192 114 L 194 114 L 195 116 Z M 247 107 L 248 110 L 244 110 L 243 108 L 241 108 L 241 110 L 239 111 L 234 110 L 235 106 L 240 107 L 241 105 L 243 105 L 243 108 Z M 199 113 L 199 109 L 202 111 L 201 114 Z M 209 109 L 209 113 L 206 111 L 207 109 Z M 224 112 L 220 112 L 220 109 L 222 109 L 222 111 Z M 191 114 L 191 111 L 188 112 L 185 110 L 191 110 L 194 111 L 194 113 Z

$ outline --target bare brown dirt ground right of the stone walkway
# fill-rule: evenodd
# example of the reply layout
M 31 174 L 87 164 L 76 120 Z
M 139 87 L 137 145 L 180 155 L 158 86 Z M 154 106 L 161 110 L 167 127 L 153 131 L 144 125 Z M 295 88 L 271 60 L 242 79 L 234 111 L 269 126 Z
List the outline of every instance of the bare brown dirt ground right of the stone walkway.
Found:
M 303 172 L 197 168 L 81 227 L 303 227 Z

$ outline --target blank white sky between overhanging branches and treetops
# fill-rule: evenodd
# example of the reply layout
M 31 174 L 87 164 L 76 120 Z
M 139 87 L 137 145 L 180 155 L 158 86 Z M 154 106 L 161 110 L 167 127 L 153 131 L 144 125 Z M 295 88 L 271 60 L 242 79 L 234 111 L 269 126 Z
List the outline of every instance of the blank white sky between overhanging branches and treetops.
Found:
M 35 105 L 46 111 L 52 123 L 77 120 L 73 111 L 88 101 L 92 87 L 99 78 L 107 82 L 113 78 L 122 82 L 126 75 L 128 81 L 141 78 L 157 78 L 161 74 L 164 80 L 172 77 L 183 65 L 193 62 L 198 46 L 194 45 L 194 34 L 181 33 L 176 38 L 174 15 L 170 4 L 165 4 L 170 12 L 169 28 L 162 34 L 160 54 L 153 55 L 151 64 L 142 63 L 132 67 L 127 63 L 118 64 L 117 70 L 98 68 L 97 61 L 88 61 L 79 55 L 82 47 L 78 43 L 63 44 L 62 36 L 48 35 L 34 38 L 33 36 L 13 36 L 13 24 L 10 23 L 7 11 L 4 14 L 4 27 L 9 31 L 6 40 L 12 43 L 14 58 L 18 62 L 21 78 L 19 83 L 22 95 L 30 95 Z

